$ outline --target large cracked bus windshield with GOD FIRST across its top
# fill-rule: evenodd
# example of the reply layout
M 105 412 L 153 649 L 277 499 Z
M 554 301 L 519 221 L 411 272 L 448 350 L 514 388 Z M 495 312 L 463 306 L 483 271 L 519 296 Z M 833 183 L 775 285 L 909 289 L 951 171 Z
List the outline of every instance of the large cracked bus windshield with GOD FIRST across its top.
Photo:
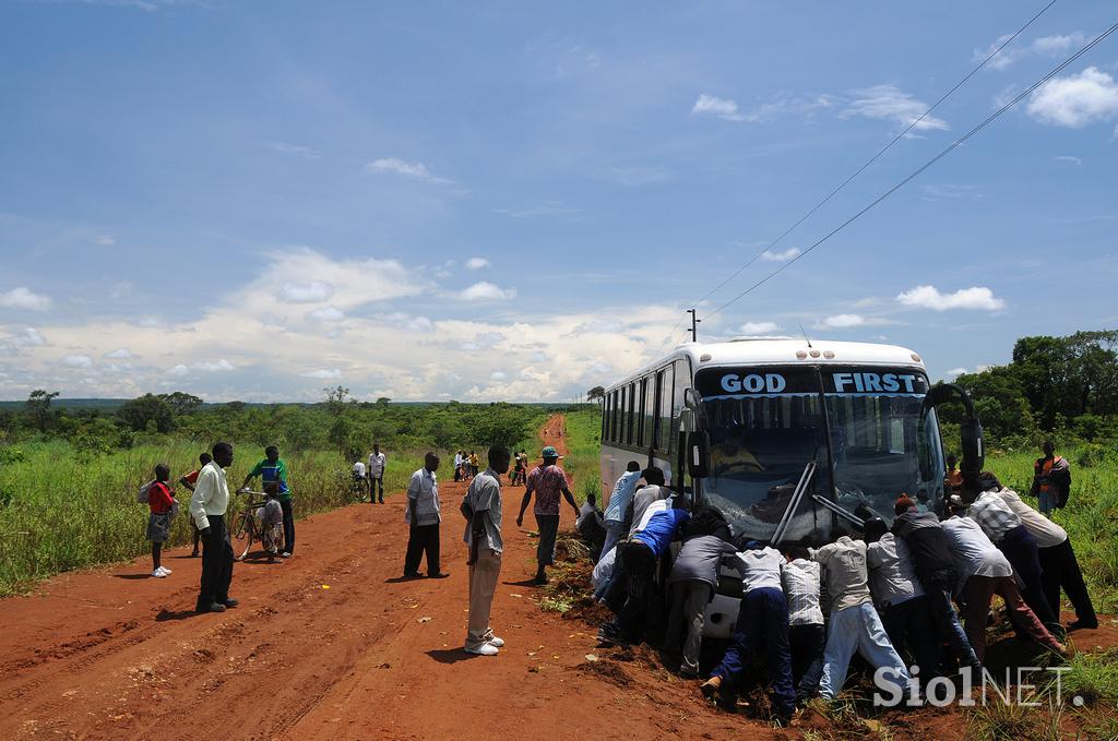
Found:
M 705 498 L 736 533 L 770 539 L 811 462 L 817 469 L 785 543 L 850 532 L 812 495 L 851 512 L 869 509 L 887 523 L 901 493 L 921 507 L 941 503 L 939 428 L 935 410 L 921 415 L 928 380 L 918 369 L 714 368 L 697 376 L 695 388 L 711 441 Z

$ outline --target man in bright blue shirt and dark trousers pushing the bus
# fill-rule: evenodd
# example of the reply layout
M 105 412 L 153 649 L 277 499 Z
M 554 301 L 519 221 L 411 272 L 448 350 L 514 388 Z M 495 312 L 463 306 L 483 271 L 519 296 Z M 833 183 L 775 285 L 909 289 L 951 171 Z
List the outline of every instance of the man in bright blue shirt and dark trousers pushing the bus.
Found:
M 664 504 L 669 502 L 679 504 L 674 498 L 666 500 Z M 627 595 L 617 617 L 598 629 L 599 642 L 606 645 L 641 642 L 652 601 L 656 562 L 690 519 L 691 514 L 685 510 L 673 506 L 659 509 L 643 528 L 618 547 L 617 558 L 628 576 Z

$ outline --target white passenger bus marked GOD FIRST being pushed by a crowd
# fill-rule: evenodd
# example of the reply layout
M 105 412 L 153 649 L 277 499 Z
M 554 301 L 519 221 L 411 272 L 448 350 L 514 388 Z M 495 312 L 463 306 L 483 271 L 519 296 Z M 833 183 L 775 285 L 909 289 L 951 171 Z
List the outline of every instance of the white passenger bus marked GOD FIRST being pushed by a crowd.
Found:
M 973 418 L 973 408 L 957 387 Z M 783 548 L 891 524 L 901 494 L 942 512 L 944 449 L 923 361 L 897 345 L 793 338 L 689 342 L 608 387 L 601 482 L 629 460 L 657 466 L 675 492 L 726 515 L 736 538 Z M 964 425 L 964 466 L 980 469 L 980 426 Z M 733 580 L 719 587 L 707 635 L 729 637 Z M 740 582 L 736 585 L 740 596 Z M 713 612 L 713 614 L 712 614 Z

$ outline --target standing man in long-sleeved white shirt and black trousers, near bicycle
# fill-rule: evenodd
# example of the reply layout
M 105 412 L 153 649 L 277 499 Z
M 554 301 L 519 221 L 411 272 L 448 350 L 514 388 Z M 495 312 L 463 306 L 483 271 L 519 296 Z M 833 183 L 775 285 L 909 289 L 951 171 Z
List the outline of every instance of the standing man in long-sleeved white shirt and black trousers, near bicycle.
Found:
M 225 469 L 233 465 L 233 446 L 218 443 L 212 453 L 214 459 L 198 474 L 190 497 L 190 517 L 202 536 L 202 578 L 195 607 L 198 612 L 224 612 L 237 605 L 237 600 L 229 597 L 233 545 L 225 524 L 225 511 L 229 505 Z

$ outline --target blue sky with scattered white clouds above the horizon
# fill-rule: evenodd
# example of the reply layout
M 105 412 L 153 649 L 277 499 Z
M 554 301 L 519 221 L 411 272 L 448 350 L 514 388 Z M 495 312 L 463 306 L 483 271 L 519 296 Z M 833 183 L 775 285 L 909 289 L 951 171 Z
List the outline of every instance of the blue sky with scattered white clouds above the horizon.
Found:
M 569 399 L 1041 4 L 0 0 L 0 398 Z M 700 313 L 1112 15 L 1058 2 Z M 942 378 L 1115 326 L 1116 78 L 1112 37 L 703 335 Z

